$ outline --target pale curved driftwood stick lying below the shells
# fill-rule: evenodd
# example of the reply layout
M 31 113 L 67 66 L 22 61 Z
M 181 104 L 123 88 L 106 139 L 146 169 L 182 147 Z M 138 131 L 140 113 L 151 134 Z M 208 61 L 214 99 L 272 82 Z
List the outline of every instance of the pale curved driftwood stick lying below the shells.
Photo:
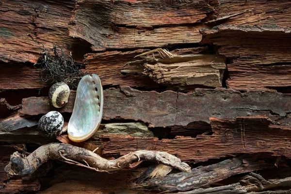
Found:
M 109 161 L 90 150 L 70 144 L 59 143 L 40 146 L 27 157 L 22 156 L 18 152 L 14 152 L 4 170 L 10 177 L 23 177 L 32 174 L 48 160 L 60 160 L 98 172 L 120 170 L 129 167 L 134 162 L 144 160 L 162 163 L 184 172 L 191 172 L 188 164 L 181 162 L 180 159 L 166 152 L 139 150 Z M 77 161 L 83 161 L 85 164 Z

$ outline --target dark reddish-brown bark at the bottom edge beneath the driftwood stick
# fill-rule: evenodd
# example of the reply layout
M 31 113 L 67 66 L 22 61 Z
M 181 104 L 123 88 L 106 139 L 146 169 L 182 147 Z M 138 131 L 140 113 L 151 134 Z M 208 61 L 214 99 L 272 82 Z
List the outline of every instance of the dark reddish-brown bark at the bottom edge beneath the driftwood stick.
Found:
M 141 194 L 141 191 L 133 190 L 132 179 L 138 177 L 145 168 L 135 168 L 130 171 L 116 171 L 115 173 L 99 173 L 79 166 L 62 165 L 51 171 L 44 178 L 42 186 L 48 188 L 41 194 L 101 194 L 101 193 L 125 193 Z M 110 183 L 110 186 L 108 184 Z M 156 192 L 146 192 L 156 194 Z

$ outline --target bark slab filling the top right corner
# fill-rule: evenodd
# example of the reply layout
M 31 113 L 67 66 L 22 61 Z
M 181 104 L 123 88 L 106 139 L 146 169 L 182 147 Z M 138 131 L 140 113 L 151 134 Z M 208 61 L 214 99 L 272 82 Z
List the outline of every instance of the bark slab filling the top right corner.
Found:
M 211 26 L 227 24 L 291 27 L 290 0 L 220 0 L 220 2 L 219 16 L 206 22 Z

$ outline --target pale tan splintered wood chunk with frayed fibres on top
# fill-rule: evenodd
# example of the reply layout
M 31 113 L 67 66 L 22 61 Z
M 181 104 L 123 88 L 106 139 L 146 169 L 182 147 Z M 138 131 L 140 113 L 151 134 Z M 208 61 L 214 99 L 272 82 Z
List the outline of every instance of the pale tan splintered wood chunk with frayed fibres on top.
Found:
M 145 55 L 159 53 L 158 58 Z M 129 62 L 134 67 L 121 72 L 143 72 L 157 83 L 187 89 L 191 87 L 222 87 L 226 59 L 213 54 L 172 54 L 165 49 L 154 49 L 137 55 L 144 60 Z M 131 65 L 132 66 L 132 65 Z M 143 68 L 141 68 L 143 67 Z

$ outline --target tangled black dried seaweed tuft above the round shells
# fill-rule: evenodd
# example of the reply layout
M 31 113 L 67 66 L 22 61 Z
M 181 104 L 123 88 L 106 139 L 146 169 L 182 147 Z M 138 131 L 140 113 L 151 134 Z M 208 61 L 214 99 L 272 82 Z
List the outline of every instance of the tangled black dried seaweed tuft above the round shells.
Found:
M 72 56 L 66 54 L 58 45 L 53 44 L 52 49 L 44 47 L 40 53 L 41 56 L 34 66 L 42 69 L 39 73 L 40 80 L 48 85 L 64 82 L 70 89 L 77 89 L 80 79 L 88 74 L 81 71 Z

